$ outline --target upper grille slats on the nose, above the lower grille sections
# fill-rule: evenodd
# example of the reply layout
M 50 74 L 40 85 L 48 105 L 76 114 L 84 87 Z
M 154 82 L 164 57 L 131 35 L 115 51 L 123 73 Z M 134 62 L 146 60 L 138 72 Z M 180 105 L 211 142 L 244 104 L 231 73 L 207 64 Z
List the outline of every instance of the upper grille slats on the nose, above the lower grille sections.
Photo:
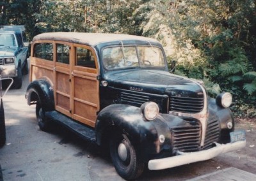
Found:
M 170 96 L 170 111 L 183 113 L 198 113 L 204 108 L 204 97 L 186 98 Z

